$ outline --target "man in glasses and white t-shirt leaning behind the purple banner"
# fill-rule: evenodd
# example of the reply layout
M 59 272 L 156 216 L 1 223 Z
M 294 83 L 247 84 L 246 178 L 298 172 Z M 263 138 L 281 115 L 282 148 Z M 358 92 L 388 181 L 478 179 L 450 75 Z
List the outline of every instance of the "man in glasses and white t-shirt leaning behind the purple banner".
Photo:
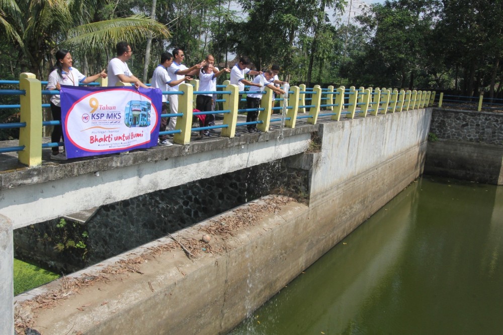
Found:
M 129 67 L 126 64 L 126 61 L 133 54 L 131 46 L 127 42 L 119 42 L 117 43 L 116 51 L 117 57 L 108 63 L 108 86 L 115 86 L 119 81 L 122 81 L 134 84 L 136 88 L 140 86 L 148 88 L 147 85 L 142 83 L 129 71 Z

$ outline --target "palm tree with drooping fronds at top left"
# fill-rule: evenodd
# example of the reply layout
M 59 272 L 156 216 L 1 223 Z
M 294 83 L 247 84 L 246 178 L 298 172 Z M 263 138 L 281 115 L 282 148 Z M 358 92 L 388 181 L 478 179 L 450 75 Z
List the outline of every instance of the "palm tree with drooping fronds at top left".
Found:
M 148 33 L 167 38 L 163 25 L 143 15 L 94 22 L 96 13 L 106 13 L 102 0 L 0 0 L 0 25 L 19 50 L 22 70 L 45 77 L 45 62 L 52 62 L 58 47 L 81 55 L 96 55 L 113 49 L 117 42 L 144 41 Z M 98 16 L 99 17 L 99 16 Z M 0 31 L 2 34 L 2 31 Z

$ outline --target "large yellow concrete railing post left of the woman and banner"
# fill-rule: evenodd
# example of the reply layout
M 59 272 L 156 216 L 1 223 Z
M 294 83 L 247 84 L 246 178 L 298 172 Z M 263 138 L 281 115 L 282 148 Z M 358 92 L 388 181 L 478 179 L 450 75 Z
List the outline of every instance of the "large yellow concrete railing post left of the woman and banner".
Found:
M 42 164 L 42 84 L 33 73 L 19 75 L 19 89 L 26 91 L 20 95 L 20 122 L 26 127 L 19 129 L 19 145 L 25 149 L 18 153 L 19 162 L 30 167 Z

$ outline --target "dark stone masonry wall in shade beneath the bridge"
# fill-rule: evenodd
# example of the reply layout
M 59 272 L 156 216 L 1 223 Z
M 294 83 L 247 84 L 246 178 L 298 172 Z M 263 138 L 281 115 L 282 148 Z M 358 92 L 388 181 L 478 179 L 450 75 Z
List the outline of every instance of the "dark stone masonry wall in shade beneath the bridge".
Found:
M 104 205 L 85 225 L 54 219 L 17 229 L 16 257 L 74 272 L 264 195 L 305 195 L 307 180 L 308 171 L 274 161 L 155 191 Z

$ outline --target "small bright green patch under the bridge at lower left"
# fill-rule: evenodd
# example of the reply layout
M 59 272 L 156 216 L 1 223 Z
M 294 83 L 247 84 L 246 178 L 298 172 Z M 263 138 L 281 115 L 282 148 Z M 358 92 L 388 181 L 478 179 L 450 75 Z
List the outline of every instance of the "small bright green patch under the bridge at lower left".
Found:
M 14 259 L 14 295 L 47 284 L 57 278 L 59 278 L 58 274 Z

